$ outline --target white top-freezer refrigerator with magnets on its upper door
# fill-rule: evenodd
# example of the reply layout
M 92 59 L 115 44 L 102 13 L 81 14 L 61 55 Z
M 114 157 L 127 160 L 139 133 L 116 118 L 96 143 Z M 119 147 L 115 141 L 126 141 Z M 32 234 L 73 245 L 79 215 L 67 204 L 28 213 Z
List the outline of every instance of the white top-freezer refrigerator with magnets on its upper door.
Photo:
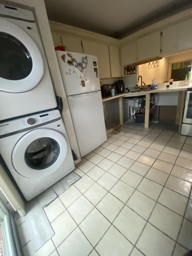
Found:
M 97 57 L 56 51 L 81 157 L 107 140 Z

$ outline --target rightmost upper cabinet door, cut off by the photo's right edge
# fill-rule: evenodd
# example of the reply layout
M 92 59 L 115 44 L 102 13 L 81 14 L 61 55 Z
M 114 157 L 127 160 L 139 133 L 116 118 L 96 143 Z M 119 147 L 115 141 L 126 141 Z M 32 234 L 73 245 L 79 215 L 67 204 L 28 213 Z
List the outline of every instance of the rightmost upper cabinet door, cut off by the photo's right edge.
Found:
M 178 24 L 177 50 L 187 50 L 192 48 L 192 19 L 185 20 Z

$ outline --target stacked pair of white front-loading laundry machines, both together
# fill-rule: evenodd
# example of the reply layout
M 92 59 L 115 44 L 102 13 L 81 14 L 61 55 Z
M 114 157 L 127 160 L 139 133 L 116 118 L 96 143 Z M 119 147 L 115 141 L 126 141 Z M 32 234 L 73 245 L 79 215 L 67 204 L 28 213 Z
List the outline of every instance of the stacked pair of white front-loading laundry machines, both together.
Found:
M 26 200 L 74 170 L 33 13 L 0 4 L 0 154 Z

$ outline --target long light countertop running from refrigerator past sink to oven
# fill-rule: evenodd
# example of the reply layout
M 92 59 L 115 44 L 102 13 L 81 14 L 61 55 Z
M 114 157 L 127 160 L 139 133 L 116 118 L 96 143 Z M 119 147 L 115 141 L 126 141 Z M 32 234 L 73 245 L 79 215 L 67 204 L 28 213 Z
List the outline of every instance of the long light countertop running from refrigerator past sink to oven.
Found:
M 151 94 L 151 93 L 158 93 L 158 92 L 179 92 L 179 91 L 186 91 L 187 88 L 189 86 L 186 85 L 186 86 L 177 86 L 177 87 L 169 87 L 169 88 L 160 88 L 160 89 L 155 89 L 155 90 L 149 90 L 149 91 L 144 91 L 144 92 L 135 92 L 136 89 L 133 88 L 130 88 L 130 91 L 131 92 L 123 92 L 123 93 L 115 93 L 115 96 L 108 96 L 108 97 L 105 97 L 105 98 L 102 98 L 102 101 L 109 101 L 109 100 L 112 100 L 112 99 L 115 99 L 115 98 L 119 98 L 119 97 L 137 97 L 140 96 L 140 95 L 147 95 L 147 94 Z M 138 89 L 139 90 L 139 89 Z

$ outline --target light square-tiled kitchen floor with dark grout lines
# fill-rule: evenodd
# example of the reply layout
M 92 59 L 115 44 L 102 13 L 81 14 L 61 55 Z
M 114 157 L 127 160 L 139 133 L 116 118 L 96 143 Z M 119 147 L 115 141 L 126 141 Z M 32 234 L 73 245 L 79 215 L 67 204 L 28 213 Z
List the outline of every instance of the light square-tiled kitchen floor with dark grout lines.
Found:
M 192 249 L 192 137 L 124 125 L 90 152 L 81 176 L 44 207 L 55 235 L 25 256 L 182 256 Z

